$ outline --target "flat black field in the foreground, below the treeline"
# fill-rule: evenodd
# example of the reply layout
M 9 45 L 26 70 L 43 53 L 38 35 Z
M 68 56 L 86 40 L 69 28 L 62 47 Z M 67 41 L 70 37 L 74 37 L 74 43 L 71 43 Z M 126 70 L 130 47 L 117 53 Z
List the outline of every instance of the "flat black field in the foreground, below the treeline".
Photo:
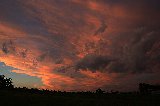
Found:
M 160 106 L 158 94 L 78 94 L 0 91 L 0 106 Z

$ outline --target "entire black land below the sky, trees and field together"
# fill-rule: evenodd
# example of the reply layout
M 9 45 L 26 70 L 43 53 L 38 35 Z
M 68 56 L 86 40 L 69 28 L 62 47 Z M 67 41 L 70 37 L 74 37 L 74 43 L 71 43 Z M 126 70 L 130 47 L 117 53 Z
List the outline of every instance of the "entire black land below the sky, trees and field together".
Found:
M 0 106 L 159 106 L 159 85 L 139 84 L 139 92 L 65 92 L 14 87 L 0 75 Z

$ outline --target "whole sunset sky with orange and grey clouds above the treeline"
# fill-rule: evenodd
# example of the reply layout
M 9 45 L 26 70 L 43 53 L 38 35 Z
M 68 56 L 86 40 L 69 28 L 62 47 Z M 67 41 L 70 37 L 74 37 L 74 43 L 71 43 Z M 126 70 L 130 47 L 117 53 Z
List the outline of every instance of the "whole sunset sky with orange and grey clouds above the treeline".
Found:
M 0 74 L 17 87 L 160 84 L 159 0 L 1 0 Z

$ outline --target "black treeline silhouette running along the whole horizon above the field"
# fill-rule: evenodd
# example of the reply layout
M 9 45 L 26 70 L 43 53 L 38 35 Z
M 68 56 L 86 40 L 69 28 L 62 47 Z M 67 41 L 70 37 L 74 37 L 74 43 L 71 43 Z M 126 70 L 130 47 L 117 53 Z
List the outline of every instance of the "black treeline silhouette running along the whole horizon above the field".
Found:
M 66 92 L 66 91 L 55 91 L 48 89 L 37 89 L 37 88 L 27 88 L 27 87 L 14 87 L 12 79 L 6 78 L 4 75 L 0 75 L 0 90 L 11 90 L 18 92 L 28 92 L 28 93 L 38 93 L 38 94 L 54 94 L 54 95 L 106 95 L 106 94 L 120 94 L 124 92 L 119 91 L 110 91 L 106 92 L 102 89 L 97 89 L 96 91 L 81 91 L 81 92 Z M 160 91 L 160 85 L 150 85 L 146 83 L 139 84 L 138 92 L 126 92 L 126 93 L 140 93 L 140 94 L 149 94 L 154 91 Z

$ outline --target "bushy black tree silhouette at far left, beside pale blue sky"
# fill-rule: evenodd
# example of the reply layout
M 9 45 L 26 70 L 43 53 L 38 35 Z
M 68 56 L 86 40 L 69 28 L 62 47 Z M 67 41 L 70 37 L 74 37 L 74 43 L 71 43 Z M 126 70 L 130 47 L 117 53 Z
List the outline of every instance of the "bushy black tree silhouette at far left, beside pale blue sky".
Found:
M 13 88 L 12 79 L 6 78 L 4 75 L 0 75 L 0 89 L 11 89 Z

